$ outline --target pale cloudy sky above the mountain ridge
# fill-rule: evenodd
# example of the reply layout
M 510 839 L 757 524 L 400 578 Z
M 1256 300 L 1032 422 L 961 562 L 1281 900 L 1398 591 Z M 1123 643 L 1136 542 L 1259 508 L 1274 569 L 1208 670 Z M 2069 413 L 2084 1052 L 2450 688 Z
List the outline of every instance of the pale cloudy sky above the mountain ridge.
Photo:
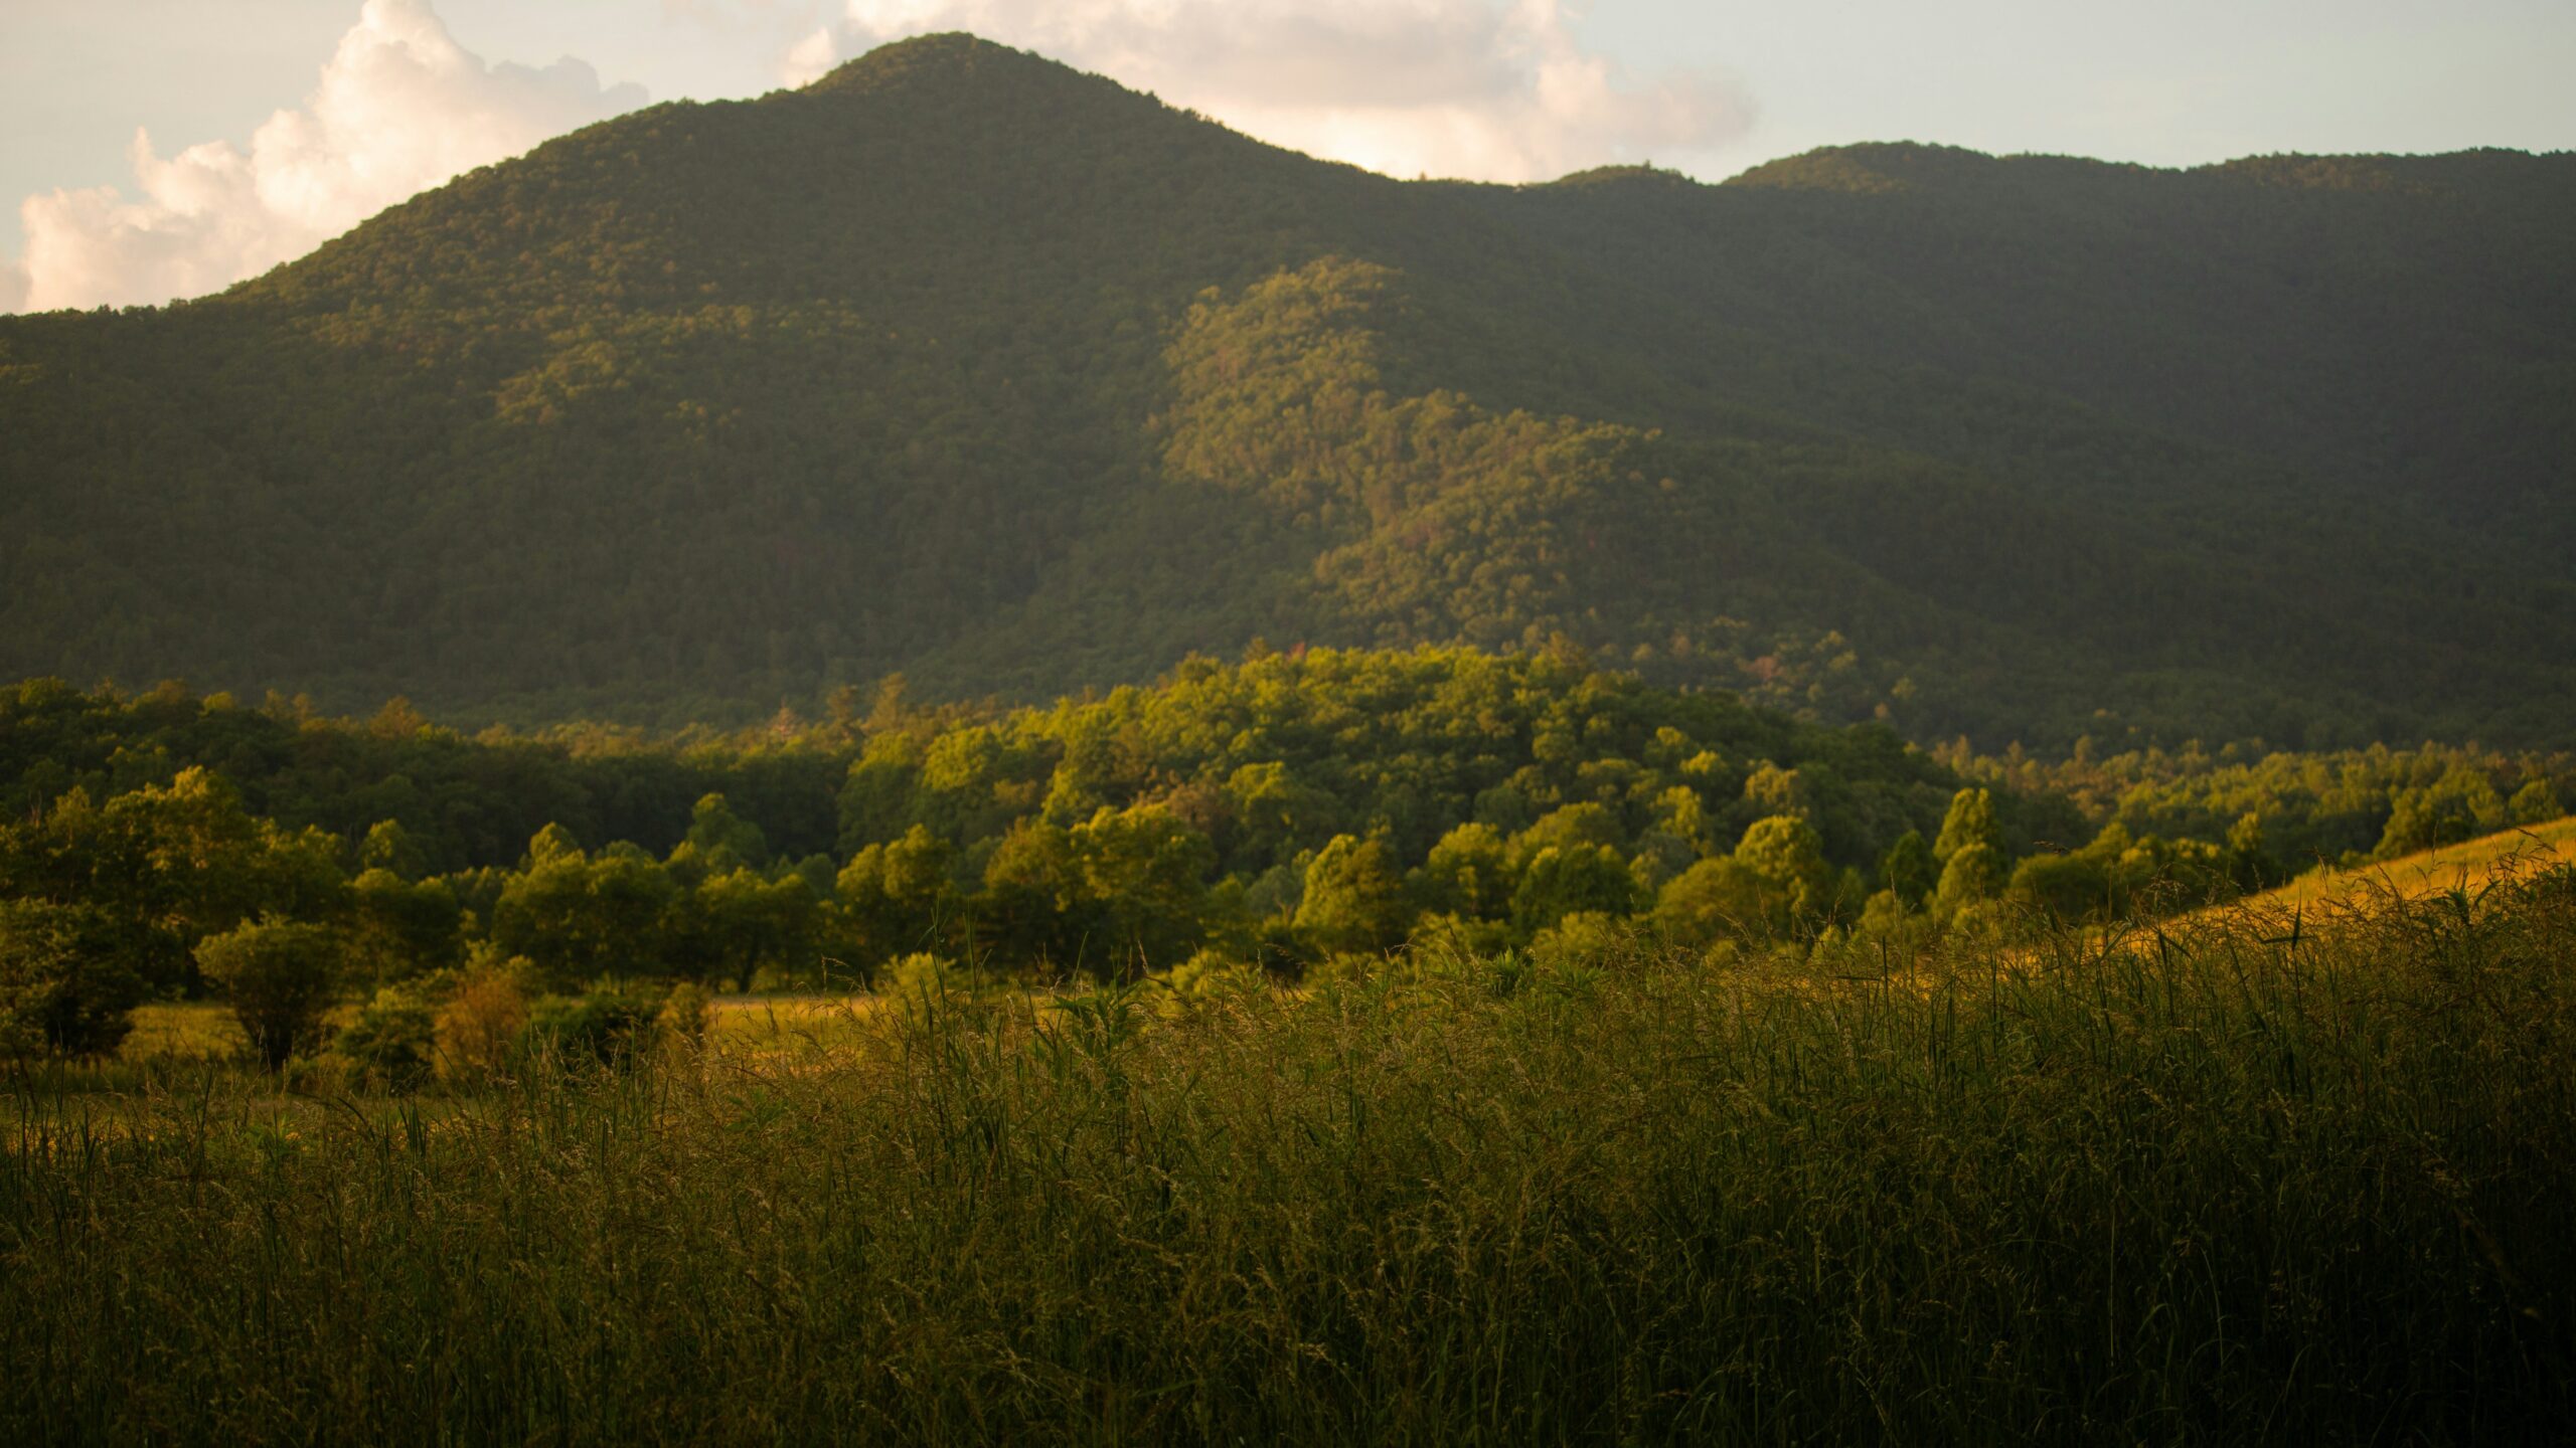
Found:
M 554 134 L 922 31 L 1391 175 L 2576 149 L 2571 0 L 0 0 L 0 312 L 219 291 Z

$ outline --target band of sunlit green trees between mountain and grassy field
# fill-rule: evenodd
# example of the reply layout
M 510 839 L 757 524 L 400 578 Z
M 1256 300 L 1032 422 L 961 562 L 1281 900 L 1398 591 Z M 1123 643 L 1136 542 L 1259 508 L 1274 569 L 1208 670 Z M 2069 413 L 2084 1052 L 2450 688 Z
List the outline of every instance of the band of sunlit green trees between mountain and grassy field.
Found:
M 358 984 L 474 958 L 544 989 L 1765 948 L 2202 899 L 2553 819 L 2571 786 L 2566 755 L 2437 747 L 1935 755 L 1463 649 L 1193 660 L 999 714 L 889 688 L 675 742 L 28 683 L 0 693 L 0 1005 L 52 1010 L 18 1000 L 49 958 L 93 997 L 188 989 L 201 940 L 270 917 L 330 928 Z

